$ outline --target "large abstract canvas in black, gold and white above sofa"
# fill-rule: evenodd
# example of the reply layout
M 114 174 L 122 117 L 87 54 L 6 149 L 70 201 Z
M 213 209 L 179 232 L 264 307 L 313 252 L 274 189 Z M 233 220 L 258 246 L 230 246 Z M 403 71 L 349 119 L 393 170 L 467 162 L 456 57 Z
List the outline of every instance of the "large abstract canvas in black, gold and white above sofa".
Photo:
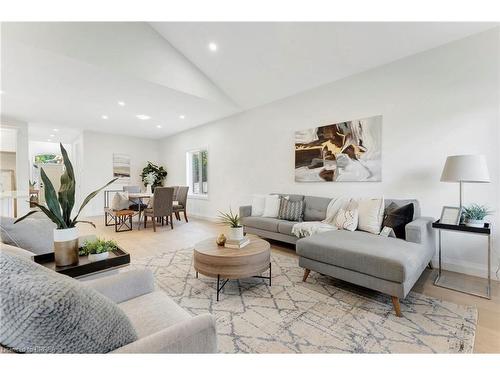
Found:
M 295 132 L 295 181 L 381 181 L 382 116 Z

